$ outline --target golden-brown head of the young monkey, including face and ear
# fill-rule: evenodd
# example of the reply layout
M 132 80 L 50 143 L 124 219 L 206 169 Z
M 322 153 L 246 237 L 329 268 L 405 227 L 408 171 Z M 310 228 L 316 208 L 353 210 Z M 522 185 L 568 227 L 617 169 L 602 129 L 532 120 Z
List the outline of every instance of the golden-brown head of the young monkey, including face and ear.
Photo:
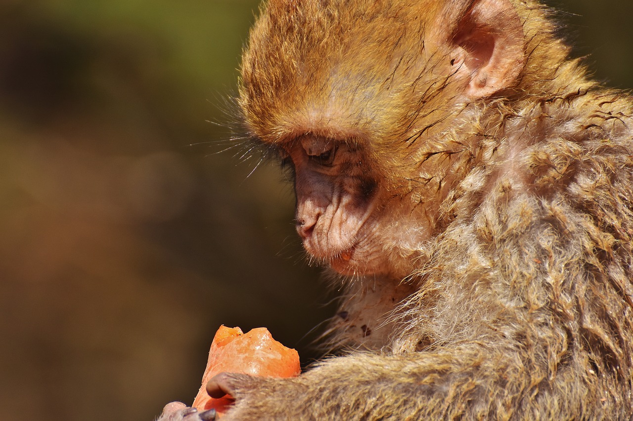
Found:
M 486 154 L 477 100 L 518 95 L 527 44 L 515 6 L 268 1 L 239 104 L 253 137 L 294 172 L 313 260 L 346 276 L 411 274 Z

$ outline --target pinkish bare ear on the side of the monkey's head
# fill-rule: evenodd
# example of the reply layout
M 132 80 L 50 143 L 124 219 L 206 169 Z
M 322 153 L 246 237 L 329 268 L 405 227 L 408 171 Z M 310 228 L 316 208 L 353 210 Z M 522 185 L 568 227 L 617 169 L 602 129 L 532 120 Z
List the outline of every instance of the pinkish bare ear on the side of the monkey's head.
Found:
M 488 97 L 514 85 L 525 66 L 523 25 L 510 0 L 468 3 L 451 25 L 451 65 L 469 80 L 468 97 Z

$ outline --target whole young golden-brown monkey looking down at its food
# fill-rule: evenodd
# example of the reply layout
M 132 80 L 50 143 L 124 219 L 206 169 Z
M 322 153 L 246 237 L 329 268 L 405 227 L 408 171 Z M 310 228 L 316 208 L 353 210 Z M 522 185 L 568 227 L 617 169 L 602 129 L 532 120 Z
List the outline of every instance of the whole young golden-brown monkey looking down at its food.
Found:
M 344 291 L 223 420 L 633 417 L 633 101 L 536 0 L 268 0 L 239 105 Z M 199 420 L 191 409 L 162 420 Z

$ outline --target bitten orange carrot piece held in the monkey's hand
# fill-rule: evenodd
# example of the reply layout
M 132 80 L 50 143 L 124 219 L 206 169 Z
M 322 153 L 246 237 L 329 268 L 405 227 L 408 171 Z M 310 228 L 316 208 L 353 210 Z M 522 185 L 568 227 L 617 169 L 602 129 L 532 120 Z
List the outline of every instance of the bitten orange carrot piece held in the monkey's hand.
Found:
M 215 333 L 209 359 L 193 406 L 198 410 L 215 409 L 222 415 L 234 400 L 230 395 L 211 398 L 206 383 L 222 372 L 258 375 L 261 377 L 296 377 L 301 372 L 299 354 L 275 341 L 265 327 L 242 333 L 239 327 L 220 326 Z

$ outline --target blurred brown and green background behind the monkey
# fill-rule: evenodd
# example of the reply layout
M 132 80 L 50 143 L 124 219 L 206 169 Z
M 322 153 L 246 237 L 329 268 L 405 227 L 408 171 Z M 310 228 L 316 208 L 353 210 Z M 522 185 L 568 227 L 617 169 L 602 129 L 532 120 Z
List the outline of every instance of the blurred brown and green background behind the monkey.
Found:
M 1 1 L 1 419 L 152 420 L 220 324 L 318 358 L 333 308 L 292 188 L 228 142 L 257 3 Z M 633 87 L 633 4 L 549 3 Z

